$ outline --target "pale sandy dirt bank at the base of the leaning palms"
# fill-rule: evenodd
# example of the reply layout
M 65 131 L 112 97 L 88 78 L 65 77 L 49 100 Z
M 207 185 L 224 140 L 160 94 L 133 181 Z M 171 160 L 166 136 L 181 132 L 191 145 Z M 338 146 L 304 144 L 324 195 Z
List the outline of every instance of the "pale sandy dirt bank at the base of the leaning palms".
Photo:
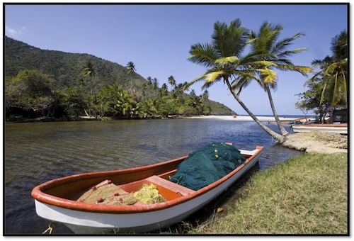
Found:
M 348 153 L 348 135 L 312 131 L 287 135 L 283 146 L 307 153 Z

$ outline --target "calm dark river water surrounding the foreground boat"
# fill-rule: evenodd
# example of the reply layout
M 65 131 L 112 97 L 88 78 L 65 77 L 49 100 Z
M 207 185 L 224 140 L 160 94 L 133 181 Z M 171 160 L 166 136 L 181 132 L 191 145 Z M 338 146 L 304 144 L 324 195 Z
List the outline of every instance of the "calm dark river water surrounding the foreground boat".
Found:
M 276 130 L 276 125 L 268 125 Z M 286 126 L 288 131 L 290 127 Z M 239 149 L 264 145 L 260 170 L 301 152 L 275 145 L 253 121 L 217 119 L 110 120 L 5 124 L 6 235 L 40 235 L 48 221 L 35 213 L 32 189 L 83 172 L 163 162 L 212 142 Z M 73 234 L 57 224 L 53 234 Z

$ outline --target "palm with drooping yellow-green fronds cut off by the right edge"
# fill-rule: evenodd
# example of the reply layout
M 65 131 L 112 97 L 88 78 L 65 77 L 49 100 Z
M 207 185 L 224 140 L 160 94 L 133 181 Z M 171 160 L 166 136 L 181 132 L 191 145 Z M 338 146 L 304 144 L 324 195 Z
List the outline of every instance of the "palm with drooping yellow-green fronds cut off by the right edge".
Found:
M 348 33 L 343 30 L 331 41 L 331 56 L 314 60 L 313 67 L 319 72 L 305 82 L 305 86 L 320 78 L 324 83 L 321 101 L 329 101 L 333 107 L 348 105 Z

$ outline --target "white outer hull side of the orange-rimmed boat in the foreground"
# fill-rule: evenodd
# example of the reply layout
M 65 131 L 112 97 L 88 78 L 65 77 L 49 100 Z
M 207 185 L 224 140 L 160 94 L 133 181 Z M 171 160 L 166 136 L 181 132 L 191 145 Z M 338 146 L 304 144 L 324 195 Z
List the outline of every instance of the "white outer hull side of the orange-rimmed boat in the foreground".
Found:
M 241 150 L 241 153 L 252 155 L 253 151 Z M 169 208 L 141 213 L 91 213 L 53 206 L 35 200 L 35 210 L 40 217 L 64 223 L 77 234 L 137 233 L 160 230 L 180 222 L 217 198 L 219 194 L 226 191 L 229 186 L 257 164 L 259 157 L 260 155 L 257 155 L 251 159 L 251 162 L 246 164 L 239 172 L 236 172 L 214 189 Z

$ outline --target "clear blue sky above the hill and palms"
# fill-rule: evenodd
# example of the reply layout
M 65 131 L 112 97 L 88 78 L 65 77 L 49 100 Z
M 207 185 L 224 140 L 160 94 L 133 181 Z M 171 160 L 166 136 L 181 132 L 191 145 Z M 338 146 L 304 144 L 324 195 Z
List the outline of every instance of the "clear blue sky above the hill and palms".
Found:
M 161 86 L 171 75 L 178 84 L 203 74 L 204 67 L 187 60 L 190 46 L 210 43 L 216 21 L 229 24 L 236 18 L 256 31 L 264 21 L 280 23 L 284 27 L 280 38 L 304 33 L 291 48 L 309 50 L 291 60 L 295 65 L 310 66 L 312 60 L 331 55 L 331 39 L 348 30 L 347 7 L 303 3 L 6 5 L 4 25 L 8 37 L 43 50 L 88 53 L 123 66 L 132 61 L 138 74 L 158 79 Z M 278 88 L 272 94 L 280 116 L 303 114 L 295 108 L 299 101 L 295 94 L 306 91 L 308 78 L 278 72 Z M 202 94 L 201 85 L 191 88 Z M 209 99 L 246 114 L 222 82 L 208 91 Z M 254 114 L 272 113 L 268 96 L 257 84 L 249 85 L 240 97 Z

